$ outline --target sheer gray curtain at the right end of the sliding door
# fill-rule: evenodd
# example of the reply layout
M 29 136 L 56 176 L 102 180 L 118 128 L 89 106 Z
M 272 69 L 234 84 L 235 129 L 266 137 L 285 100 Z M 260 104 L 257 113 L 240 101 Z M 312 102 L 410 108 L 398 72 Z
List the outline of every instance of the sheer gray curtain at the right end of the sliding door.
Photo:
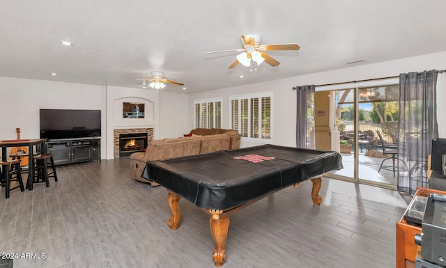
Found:
M 397 175 L 399 191 L 414 194 L 417 187 L 428 187 L 427 156 L 438 137 L 437 75 L 436 70 L 399 75 L 398 153 L 407 164 Z

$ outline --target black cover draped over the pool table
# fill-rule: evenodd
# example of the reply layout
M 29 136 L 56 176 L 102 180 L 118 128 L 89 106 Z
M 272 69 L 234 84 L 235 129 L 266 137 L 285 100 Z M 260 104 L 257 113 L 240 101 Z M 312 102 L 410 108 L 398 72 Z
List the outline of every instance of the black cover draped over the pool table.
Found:
M 251 155 L 247 159 L 266 159 L 254 163 L 235 158 L 246 155 Z M 197 207 L 226 210 L 341 168 L 338 152 L 260 145 L 150 161 L 141 177 L 150 178 Z

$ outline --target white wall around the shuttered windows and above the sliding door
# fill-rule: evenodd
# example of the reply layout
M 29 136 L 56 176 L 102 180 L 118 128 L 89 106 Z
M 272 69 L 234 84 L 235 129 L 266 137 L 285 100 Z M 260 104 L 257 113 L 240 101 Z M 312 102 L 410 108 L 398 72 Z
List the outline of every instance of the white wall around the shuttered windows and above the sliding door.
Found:
M 210 90 L 202 93 L 193 93 L 189 96 L 190 128 L 194 127 L 194 100 L 202 100 L 213 97 L 222 97 L 222 127 L 229 128 L 229 96 L 242 95 L 248 93 L 259 93 L 263 91 L 273 91 L 273 142 L 277 145 L 295 146 L 295 90 L 293 86 L 302 86 L 307 84 L 330 84 L 346 81 L 356 81 L 362 79 L 374 79 L 380 77 L 398 76 L 403 72 L 422 72 L 423 70 L 444 70 L 446 68 L 446 52 L 428 54 L 410 58 L 402 58 L 395 61 L 385 61 L 382 63 L 373 63 L 360 65 L 328 72 L 318 72 L 314 74 L 305 74 L 287 79 L 276 81 L 267 81 L 246 86 L 236 86 L 231 88 L 222 88 Z M 446 103 L 446 74 L 439 75 L 441 79 L 441 90 L 439 92 L 439 103 Z M 443 93 L 443 94 L 442 94 Z M 446 136 L 446 107 L 440 106 L 438 113 L 440 137 Z M 240 147 L 255 145 L 242 141 Z

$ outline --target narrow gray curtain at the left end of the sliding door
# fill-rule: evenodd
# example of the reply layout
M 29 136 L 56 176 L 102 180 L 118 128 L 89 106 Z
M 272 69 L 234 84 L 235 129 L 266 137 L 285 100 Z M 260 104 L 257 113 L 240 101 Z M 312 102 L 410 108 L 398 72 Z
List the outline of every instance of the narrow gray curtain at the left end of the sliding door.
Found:
M 314 85 L 297 86 L 295 144 L 314 149 Z

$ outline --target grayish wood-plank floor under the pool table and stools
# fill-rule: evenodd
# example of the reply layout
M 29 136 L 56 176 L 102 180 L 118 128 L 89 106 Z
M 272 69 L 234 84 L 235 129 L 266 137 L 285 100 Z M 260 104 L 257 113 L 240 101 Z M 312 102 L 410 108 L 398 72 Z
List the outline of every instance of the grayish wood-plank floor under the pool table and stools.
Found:
M 0 253 L 17 253 L 15 268 L 214 267 L 208 216 L 180 200 L 180 228 L 170 230 L 167 191 L 130 179 L 128 157 L 57 173 L 49 188 L 9 199 L 1 189 Z M 323 178 L 316 207 L 311 188 L 303 182 L 231 215 L 223 267 L 395 267 L 395 222 L 409 196 Z

